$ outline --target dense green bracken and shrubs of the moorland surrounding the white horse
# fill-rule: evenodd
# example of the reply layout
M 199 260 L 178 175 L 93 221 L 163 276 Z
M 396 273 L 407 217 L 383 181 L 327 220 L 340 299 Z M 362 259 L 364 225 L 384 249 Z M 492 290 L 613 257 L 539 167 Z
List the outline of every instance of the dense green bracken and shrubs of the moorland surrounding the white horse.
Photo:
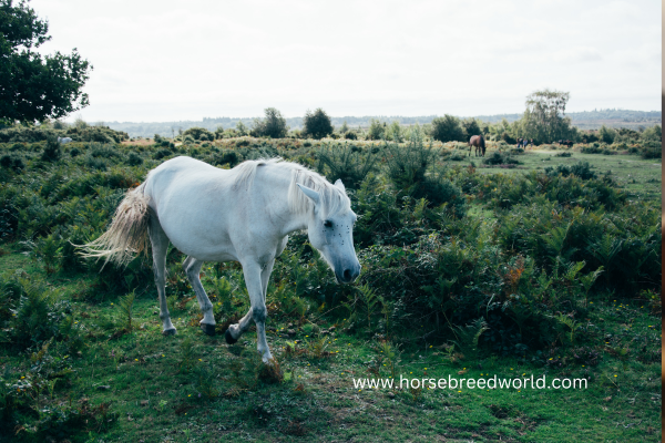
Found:
M 277 113 L 270 115 L 279 126 Z M 0 277 L 1 352 L 18 356 L 0 375 L 0 430 L 17 439 L 103 434 L 116 423 L 108 403 L 71 404 L 71 390 L 81 383 L 76 359 L 136 333 L 135 301 L 154 299 L 151 260 L 142 255 L 126 268 L 104 267 L 83 260 L 74 245 L 99 237 L 126 189 L 177 155 L 221 168 L 280 156 L 344 181 L 358 214 L 354 233 L 362 274 L 357 285 L 336 285 L 306 234 L 291 237 L 273 272 L 268 322 L 288 323 L 286 338 L 307 330 L 318 341 L 310 348 L 287 342 L 284 356 L 328 356 L 324 324 L 335 324 L 393 356 L 436 346 L 451 364 L 494 356 L 569 371 L 580 361 L 597 364 L 604 352 L 643 364 L 659 361 L 655 334 L 608 338 L 587 320 L 611 300 L 646 306 L 644 316 L 658 313 L 662 279 L 659 203 L 631 195 L 589 163 L 503 174 L 501 167 L 520 164 L 529 152 L 511 151 L 500 136 L 489 142 L 483 163 L 468 162 L 464 144 L 442 144 L 419 126 L 388 127 L 390 136 L 377 142 L 370 132 L 356 132 L 365 140 L 314 141 L 188 130 L 150 143 L 103 126 L 55 126 L 0 131 L 1 250 L 33 260 L 32 271 L 4 267 Z M 612 144 L 549 147 L 648 158 L 655 133 L 617 131 Z M 62 135 L 73 142 L 59 144 Z M 192 301 L 183 259 L 177 250 L 168 254 L 166 290 L 174 310 Z M 203 281 L 224 332 L 248 308 L 242 271 L 212 265 Z M 116 316 L 86 313 L 109 302 L 119 306 Z M 186 313 L 193 324 L 195 305 Z M 186 357 L 193 344 L 183 347 L 180 369 L 187 371 L 196 367 Z M 284 380 L 284 368 L 266 374 L 252 364 L 260 383 Z M 377 360 L 367 364 L 372 369 Z M 397 359 L 391 368 L 397 371 Z M 212 372 L 197 373 L 198 395 L 219 398 Z M 228 393 L 234 382 L 225 383 Z

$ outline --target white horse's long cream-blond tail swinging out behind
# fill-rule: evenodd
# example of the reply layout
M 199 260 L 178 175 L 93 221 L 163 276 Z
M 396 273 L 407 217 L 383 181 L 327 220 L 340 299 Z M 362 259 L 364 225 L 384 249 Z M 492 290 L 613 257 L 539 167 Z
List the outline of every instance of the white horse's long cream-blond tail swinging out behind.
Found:
M 134 254 L 147 251 L 150 197 L 144 194 L 144 187 L 145 183 L 127 190 L 109 229 L 96 240 L 80 246 L 82 257 L 104 258 L 104 265 L 112 261 L 122 266 L 132 261 Z

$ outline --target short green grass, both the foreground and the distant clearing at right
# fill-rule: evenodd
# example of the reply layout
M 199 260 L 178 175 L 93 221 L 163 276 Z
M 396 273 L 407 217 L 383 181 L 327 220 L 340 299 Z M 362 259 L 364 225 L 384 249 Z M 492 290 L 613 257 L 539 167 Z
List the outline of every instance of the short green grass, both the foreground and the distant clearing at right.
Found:
M 528 151 L 515 156 L 522 163 L 515 168 L 478 171 L 520 174 L 590 162 L 598 175 L 612 171 L 628 198 L 659 207 L 659 161 L 579 152 L 555 157 L 560 152 Z M 494 213 L 475 203 L 469 216 L 490 220 Z M 491 224 L 482 229 L 492 229 Z M 50 411 L 59 408 L 85 421 L 72 433 L 60 430 L 64 420 L 54 416 L 49 425 L 55 436 L 49 441 L 661 441 L 662 332 L 656 300 L 595 295 L 586 317 L 577 318 L 571 331 L 571 342 L 583 347 L 550 349 L 538 361 L 485 352 L 464 358 L 448 343 L 428 340 L 431 331 L 418 321 L 413 329 L 423 328 L 415 333 L 418 339 L 396 348 L 380 336 L 350 332 L 346 319 L 323 312 L 298 318 L 269 308 L 268 343 L 280 367 L 276 374 L 256 356 L 254 329 L 233 346 L 224 341 L 223 324 L 216 337 L 205 336 L 197 326 L 195 299 L 173 306 L 178 333 L 163 337 L 156 291 L 146 287 L 136 291 L 131 327 L 120 328 L 126 317 L 121 297 L 90 301 L 81 295 L 94 290 L 94 276 L 48 274 L 24 250 L 18 241 L 1 245 L 0 274 L 30 275 L 62 290 L 61 297 L 72 301 L 73 320 L 85 340 L 79 353 L 66 354 L 53 346 L 41 357 L 35 350 L 32 359 L 0 347 L 4 380 L 29 381 L 40 365 L 71 369 L 68 377 L 53 377 L 57 381 L 50 390 L 31 391 L 39 414 L 51 416 Z M 204 287 L 211 287 L 221 269 L 216 264 L 204 267 Z M 268 307 L 276 306 L 275 297 L 269 289 Z M 249 307 L 246 296 L 238 300 L 239 308 Z M 101 323 L 115 326 L 104 329 Z M 545 375 L 548 384 L 554 378 L 584 378 L 587 388 L 358 389 L 354 384 L 354 379 L 399 380 L 400 375 L 446 380 Z M 0 441 L 19 440 L 27 431 L 14 429 L 0 435 Z

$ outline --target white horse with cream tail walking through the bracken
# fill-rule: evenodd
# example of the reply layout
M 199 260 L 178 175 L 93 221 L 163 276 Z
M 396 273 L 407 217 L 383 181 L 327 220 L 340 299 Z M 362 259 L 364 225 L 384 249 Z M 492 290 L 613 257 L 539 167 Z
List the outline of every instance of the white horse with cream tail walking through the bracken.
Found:
M 307 228 L 309 243 L 337 281 L 350 282 L 360 274 L 352 236 L 356 218 L 341 181 L 331 185 L 300 165 L 273 158 L 225 171 L 181 156 L 164 162 L 127 192 L 106 233 L 84 245 L 83 256 L 126 264 L 146 248 L 150 237 L 164 336 L 176 333 L 164 293 L 168 241 L 188 256 L 183 268 L 203 311 L 201 328 L 211 336 L 213 305 L 198 272 L 204 261 L 239 261 L 252 308 L 226 330 L 226 341 L 237 341 L 254 319 L 257 349 L 267 362 L 272 354 L 265 334 L 266 290 L 288 234 Z

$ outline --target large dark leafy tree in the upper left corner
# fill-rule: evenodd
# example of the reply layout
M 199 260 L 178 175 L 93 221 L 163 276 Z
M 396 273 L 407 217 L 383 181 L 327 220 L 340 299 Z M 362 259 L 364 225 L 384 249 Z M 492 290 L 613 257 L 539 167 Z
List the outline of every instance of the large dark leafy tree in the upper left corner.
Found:
M 44 55 L 49 22 L 24 0 L 0 0 L 0 121 L 59 119 L 89 104 L 82 92 L 92 65 L 76 52 Z

